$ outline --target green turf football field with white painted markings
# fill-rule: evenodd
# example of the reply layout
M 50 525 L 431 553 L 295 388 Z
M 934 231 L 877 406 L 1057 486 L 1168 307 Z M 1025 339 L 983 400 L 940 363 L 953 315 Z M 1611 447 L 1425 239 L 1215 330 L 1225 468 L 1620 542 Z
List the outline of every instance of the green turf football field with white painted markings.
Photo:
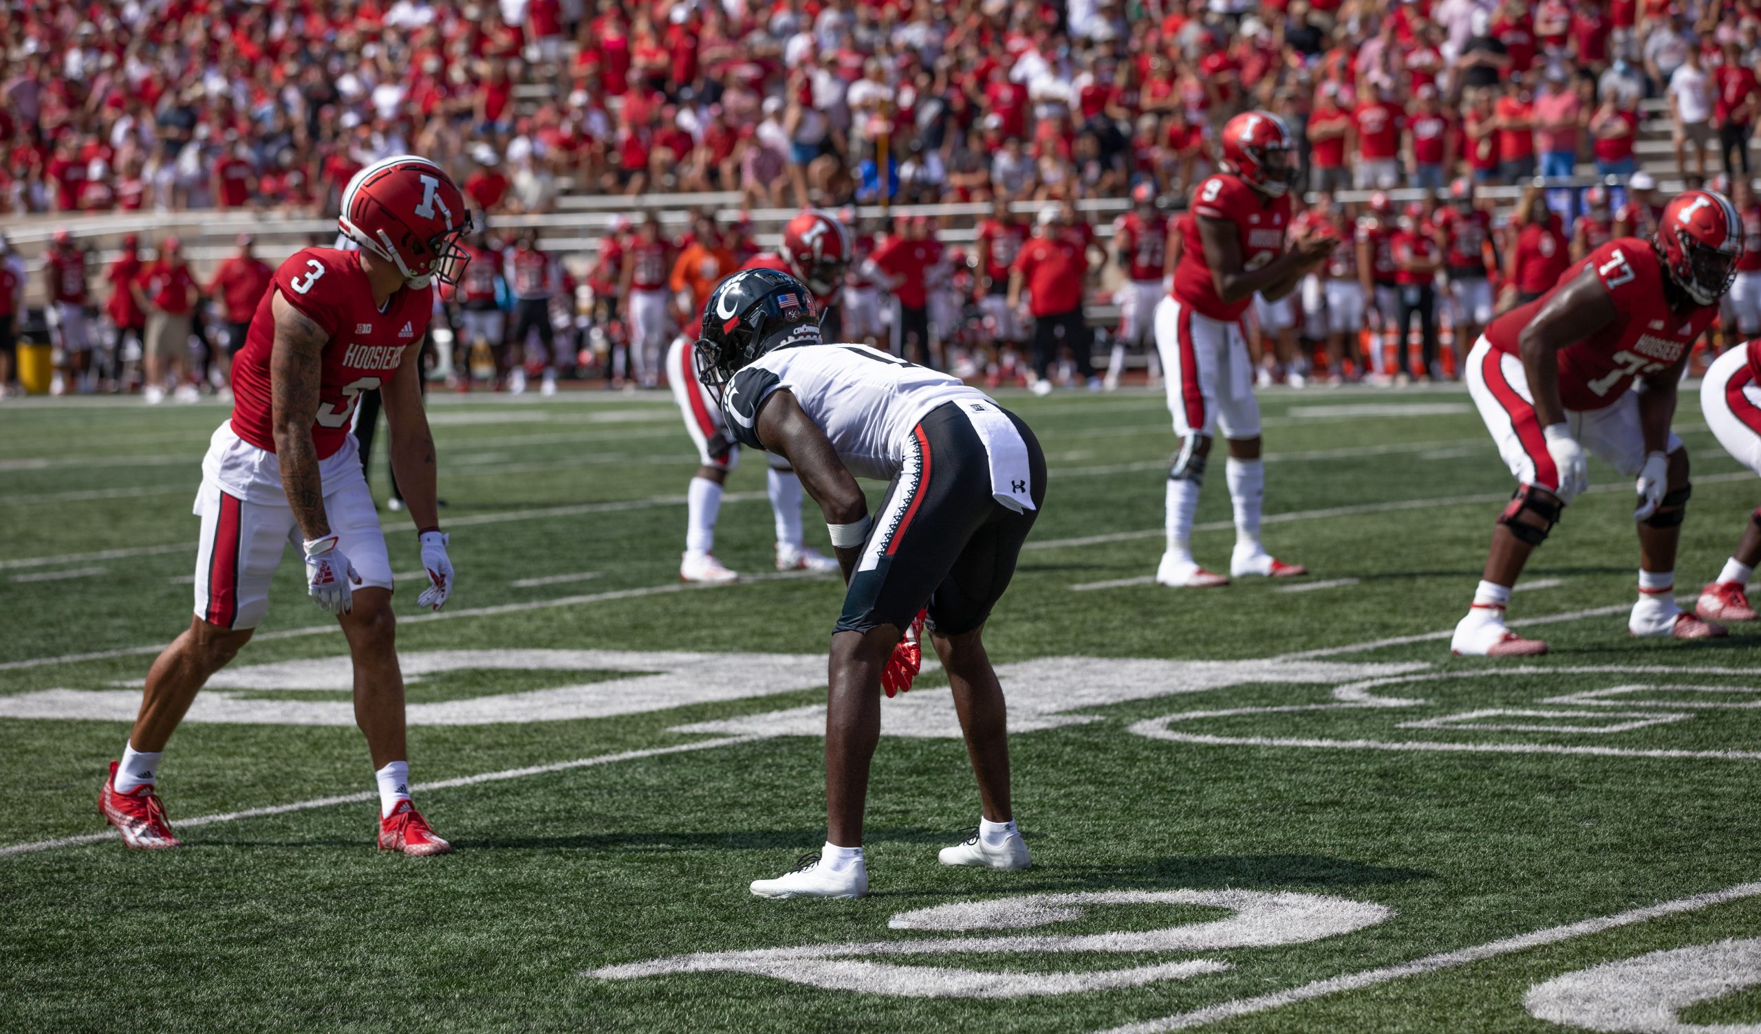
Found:
M 398 594 L 417 802 L 458 848 L 426 860 L 372 849 L 345 649 L 292 561 L 166 754 L 187 846 L 106 835 L 224 413 L 0 404 L 0 1029 L 1761 1025 L 1761 630 L 1627 637 L 1631 482 L 1592 461 L 1513 600 L 1550 656 L 1451 659 L 1511 491 L 1465 392 L 1266 394 L 1266 542 L 1314 575 L 1222 591 L 1148 584 L 1159 394 L 1004 403 L 1051 462 L 988 630 L 1035 867 L 937 865 L 977 797 L 932 672 L 884 703 L 854 902 L 747 893 L 824 839 L 840 591 L 676 582 L 696 459 L 669 401 L 435 399 L 458 591 Z M 1761 484 L 1678 424 L 1691 594 Z M 718 535 L 754 575 L 763 489 L 731 478 Z

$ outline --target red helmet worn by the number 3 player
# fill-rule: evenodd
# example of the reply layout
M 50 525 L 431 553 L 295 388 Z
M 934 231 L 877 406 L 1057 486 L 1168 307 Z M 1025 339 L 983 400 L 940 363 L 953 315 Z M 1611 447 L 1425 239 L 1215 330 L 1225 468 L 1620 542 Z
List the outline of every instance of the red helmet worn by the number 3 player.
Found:
M 343 236 L 398 264 L 409 287 L 430 280 L 458 283 L 470 262 L 460 239 L 470 234 L 465 195 L 440 165 L 416 155 L 373 162 L 342 192 Z

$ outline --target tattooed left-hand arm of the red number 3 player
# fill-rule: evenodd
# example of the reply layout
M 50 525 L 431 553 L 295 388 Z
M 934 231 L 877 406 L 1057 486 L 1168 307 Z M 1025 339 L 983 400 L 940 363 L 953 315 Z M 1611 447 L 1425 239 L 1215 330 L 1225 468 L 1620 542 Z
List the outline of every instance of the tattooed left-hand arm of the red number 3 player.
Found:
M 308 540 L 324 538 L 329 535 L 329 519 L 324 515 L 324 485 L 319 480 L 319 454 L 312 445 L 312 422 L 319 411 L 319 376 L 329 334 L 280 294 L 271 302 L 271 313 L 275 341 L 269 350 L 269 396 L 282 491 L 294 508 L 299 531 Z

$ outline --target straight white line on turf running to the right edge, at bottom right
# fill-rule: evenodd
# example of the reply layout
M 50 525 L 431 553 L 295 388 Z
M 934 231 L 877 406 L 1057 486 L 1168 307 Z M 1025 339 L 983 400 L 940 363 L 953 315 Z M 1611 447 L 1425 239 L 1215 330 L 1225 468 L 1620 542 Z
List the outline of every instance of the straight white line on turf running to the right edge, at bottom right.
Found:
M 1205 1027 L 1206 1023 L 1217 1023 L 1220 1020 L 1252 1016 L 1256 1013 L 1280 1009 L 1284 1006 L 1293 1006 L 1296 1002 L 1308 1002 L 1314 999 L 1323 999 L 1344 992 L 1354 992 L 1367 987 L 1393 983 L 1396 979 L 1405 979 L 1409 976 L 1423 976 L 1444 969 L 1470 965 L 1474 962 L 1483 962 L 1486 958 L 1497 958 L 1500 955 L 1527 951 L 1529 948 L 1558 944 L 1560 941 L 1588 937 L 1592 934 L 1601 934 L 1620 927 L 1631 927 L 1634 923 L 1647 923 L 1650 920 L 1657 920 L 1662 916 L 1692 913 L 1733 900 L 1743 900 L 1749 897 L 1761 897 L 1761 883 L 1740 883 L 1736 886 L 1728 886 L 1724 890 L 1715 890 L 1710 893 L 1696 893 L 1691 897 L 1678 897 L 1675 900 L 1629 909 L 1624 913 L 1615 913 L 1611 916 L 1580 920 L 1576 923 L 1566 923 L 1562 927 L 1546 927 L 1543 930 L 1532 930 L 1529 934 L 1518 934 L 1514 937 L 1502 937 L 1499 941 L 1488 941 L 1485 944 L 1476 944 L 1472 948 L 1460 948 L 1455 951 L 1426 955 L 1425 958 L 1414 958 L 1412 962 L 1402 962 L 1398 965 L 1382 965 L 1377 969 L 1347 972 L 1342 976 L 1305 983 L 1301 987 L 1294 987 L 1282 992 L 1271 992 L 1250 999 L 1236 999 L 1231 1002 L 1194 1009 L 1190 1013 L 1176 1013 L 1173 1016 L 1162 1016 L 1159 1020 L 1145 1020 L 1141 1023 L 1125 1023 L 1122 1027 L 1113 1027 L 1101 1034 L 1160 1034 L 1162 1030 L 1187 1030 L 1192 1027 Z

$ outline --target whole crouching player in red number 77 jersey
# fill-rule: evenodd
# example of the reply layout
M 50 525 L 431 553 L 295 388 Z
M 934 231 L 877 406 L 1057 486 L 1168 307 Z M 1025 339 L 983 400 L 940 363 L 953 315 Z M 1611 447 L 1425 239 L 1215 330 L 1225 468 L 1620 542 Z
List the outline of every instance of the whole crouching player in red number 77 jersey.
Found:
M 1675 605 L 1675 549 L 1692 489 L 1687 448 L 1669 420 L 1682 366 L 1712 325 L 1740 253 L 1731 202 L 1689 190 L 1664 208 L 1655 237 L 1603 244 L 1551 290 L 1486 327 L 1467 357 L 1467 387 L 1518 487 L 1492 533 L 1453 652 L 1546 652 L 1546 644 L 1506 628 L 1504 608 L 1560 508 L 1588 487 L 1585 450 L 1638 478 L 1639 598 L 1627 630 L 1724 635 Z M 1629 390 L 1634 382 L 1643 389 Z

